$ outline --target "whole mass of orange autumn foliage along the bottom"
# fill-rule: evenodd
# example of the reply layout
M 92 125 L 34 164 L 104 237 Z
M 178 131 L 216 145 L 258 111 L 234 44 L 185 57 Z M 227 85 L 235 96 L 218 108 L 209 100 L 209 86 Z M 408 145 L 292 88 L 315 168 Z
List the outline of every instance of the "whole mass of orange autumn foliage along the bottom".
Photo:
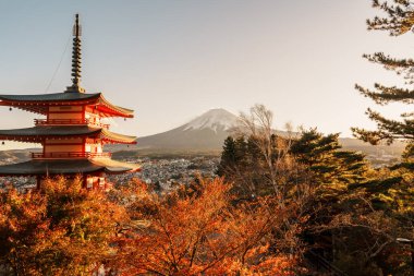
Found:
M 54 179 L 0 191 L 0 274 L 294 275 L 292 211 L 267 197 L 234 206 L 230 189 L 200 180 L 159 196 L 139 181 L 105 193 Z

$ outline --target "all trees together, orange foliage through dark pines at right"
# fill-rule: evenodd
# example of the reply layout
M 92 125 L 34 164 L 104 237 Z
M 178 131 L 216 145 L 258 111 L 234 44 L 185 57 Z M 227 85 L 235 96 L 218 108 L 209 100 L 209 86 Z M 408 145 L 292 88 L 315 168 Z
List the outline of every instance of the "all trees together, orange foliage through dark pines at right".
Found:
M 414 2 L 373 8 L 368 29 L 414 36 Z M 373 145 L 403 141 L 398 164 L 375 168 L 317 128 L 278 134 L 255 105 L 223 141 L 215 178 L 102 191 L 53 177 L 0 190 L 0 275 L 413 275 L 414 112 L 390 119 L 376 106 L 412 107 L 414 60 L 363 58 L 401 83 L 355 84 L 376 129 L 352 131 Z

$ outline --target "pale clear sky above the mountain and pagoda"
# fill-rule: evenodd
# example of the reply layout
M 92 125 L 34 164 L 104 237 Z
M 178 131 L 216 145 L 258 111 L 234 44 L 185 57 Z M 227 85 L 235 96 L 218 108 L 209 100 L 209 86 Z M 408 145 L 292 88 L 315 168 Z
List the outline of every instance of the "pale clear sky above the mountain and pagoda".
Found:
M 83 27 L 82 85 L 135 118 L 112 131 L 145 136 L 211 108 L 235 115 L 264 104 L 275 128 L 287 122 L 352 136 L 373 129 L 378 107 L 355 83 L 403 81 L 363 53 L 411 57 L 413 34 L 368 32 L 370 0 L 0 0 L 0 94 L 60 93 L 71 84 L 74 14 Z M 0 107 L 0 128 L 33 125 L 38 115 Z M 7 146 L 5 146 L 7 147 Z

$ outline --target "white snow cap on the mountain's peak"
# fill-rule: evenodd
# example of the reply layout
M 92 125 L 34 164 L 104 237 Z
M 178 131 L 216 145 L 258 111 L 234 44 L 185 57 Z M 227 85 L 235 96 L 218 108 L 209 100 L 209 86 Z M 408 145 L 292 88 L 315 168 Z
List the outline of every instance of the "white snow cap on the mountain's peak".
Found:
M 210 109 L 204 115 L 186 123 L 184 130 L 211 129 L 217 133 L 218 130 L 228 131 L 238 124 L 238 117 L 226 109 Z

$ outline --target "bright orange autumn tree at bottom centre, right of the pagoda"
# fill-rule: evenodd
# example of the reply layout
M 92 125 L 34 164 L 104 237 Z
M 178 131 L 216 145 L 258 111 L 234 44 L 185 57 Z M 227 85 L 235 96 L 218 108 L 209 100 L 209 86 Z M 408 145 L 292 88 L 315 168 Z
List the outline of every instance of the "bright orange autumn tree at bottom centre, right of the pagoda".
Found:
M 269 250 L 285 219 L 269 199 L 235 208 L 222 179 L 166 196 L 142 188 L 129 207 L 135 227 L 118 240 L 121 275 L 294 275 L 297 256 Z

